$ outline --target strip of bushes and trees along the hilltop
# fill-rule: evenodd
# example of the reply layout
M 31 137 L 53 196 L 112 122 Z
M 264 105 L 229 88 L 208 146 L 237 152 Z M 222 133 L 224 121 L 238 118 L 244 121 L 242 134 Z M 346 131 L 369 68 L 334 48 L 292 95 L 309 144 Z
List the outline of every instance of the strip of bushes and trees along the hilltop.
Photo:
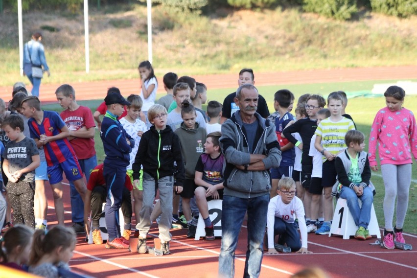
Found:
M 100 7 L 100 5 L 131 4 L 138 1 L 142 4 L 146 3 L 146 0 L 89 0 L 89 3 L 92 7 L 95 5 Z M 417 15 L 416 0 L 152 0 L 152 3 L 201 13 L 213 12 L 220 7 L 235 9 L 299 7 L 305 12 L 317 13 L 337 20 L 349 20 L 363 10 L 400 18 Z M 22 6 L 24 11 L 67 9 L 78 13 L 83 8 L 83 0 L 23 0 Z M 17 1 L 4 0 L 4 8 L 17 9 Z

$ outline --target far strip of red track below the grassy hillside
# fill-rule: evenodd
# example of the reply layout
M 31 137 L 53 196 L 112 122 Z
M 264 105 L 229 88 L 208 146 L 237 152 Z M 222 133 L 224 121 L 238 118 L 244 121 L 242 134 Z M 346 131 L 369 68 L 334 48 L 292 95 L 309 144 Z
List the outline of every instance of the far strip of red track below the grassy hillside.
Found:
M 52 72 L 53 73 L 53 72 Z M 236 88 L 236 74 L 211 74 L 193 75 L 198 81 L 207 85 L 209 89 Z M 46 77 L 47 78 L 47 77 Z M 399 67 L 380 67 L 380 68 L 350 68 L 350 69 L 331 69 L 331 70 L 300 70 L 300 71 L 281 71 L 269 73 L 255 72 L 255 85 L 282 85 L 282 84 L 311 84 L 325 82 L 344 82 L 360 80 L 388 80 L 388 79 L 416 79 L 417 66 Z M 26 84 L 29 81 L 22 77 Z M 162 76 L 159 77 L 159 93 L 163 92 Z M 41 84 L 40 99 L 43 102 L 56 102 L 55 90 L 61 84 Z M 127 96 L 131 93 L 139 93 L 139 79 L 130 80 L 111 80 L 97 82 L 77 82 L 72 83 L 77 100 L 104 99 L 107 89 L 116 86 L 120 92 Z M 31 89 L 31 85 L 28 85 Z M 0 97 L 4 101 L 11 99 L 12 84 L 9 87 L 0 87 Z

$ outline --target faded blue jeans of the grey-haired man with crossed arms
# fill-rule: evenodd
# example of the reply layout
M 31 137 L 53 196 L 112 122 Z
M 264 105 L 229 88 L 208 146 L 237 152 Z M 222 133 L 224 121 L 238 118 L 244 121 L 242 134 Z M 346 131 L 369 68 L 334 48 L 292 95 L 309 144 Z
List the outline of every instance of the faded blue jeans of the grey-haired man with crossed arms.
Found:
M 263 256 L 269 193 L 252 199 L 223 196 L 222 247 L 219 255 L 219 276 L 234 277 L 234 253 L 243 218 L 248 211 L 248 250 L 243 277 L 259 277 Z

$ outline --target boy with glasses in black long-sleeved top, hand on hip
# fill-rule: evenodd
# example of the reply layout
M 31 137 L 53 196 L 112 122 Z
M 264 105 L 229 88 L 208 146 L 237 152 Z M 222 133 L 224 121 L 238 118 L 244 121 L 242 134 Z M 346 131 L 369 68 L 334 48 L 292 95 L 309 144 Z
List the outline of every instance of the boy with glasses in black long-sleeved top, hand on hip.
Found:
M 308 232 L 313 232 L 316 219 L 311 219 L 310 205 L 312 195 L 308 192 L 311 181 L 311 173 L 313 172 L 313 159 L 308 155 L 310 151 L 310 141 L 317 129 L 316 113 L 323 109 L 326 105 L 324 97 L 319 94 L 310 95 L 305 104 L 308 117 L 296 121 L 294 124 L 286 127 L 282 134 L 286 139 L 292 142 L 296 147 L 302 150 L 301 155 L 301 185 L 305 189 L 304 198 L 302 200 L 305 208 L 305 222 L 308 227 Z M 292 133 L 298 132 L 301 136 L 302 142 L 299 142 Z M 311 223 L 310 223 L 311 222 Z

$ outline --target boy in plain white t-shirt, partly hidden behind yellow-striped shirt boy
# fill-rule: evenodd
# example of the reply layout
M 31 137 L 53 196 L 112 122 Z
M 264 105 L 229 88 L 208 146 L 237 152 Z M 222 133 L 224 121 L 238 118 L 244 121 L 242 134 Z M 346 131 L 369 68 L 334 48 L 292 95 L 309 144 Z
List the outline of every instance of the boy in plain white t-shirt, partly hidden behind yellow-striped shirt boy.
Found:
M 327 108 L 319 110 L 316 114 L 317 124 L 319 124 L 322 120 L 324 120 L 325 118 L 328 118 L 329 116 L 330 116 L 330 111 Z M 308 155 L 313 157 L 313 171 L 311 172 L 311 181 L 310 181 L 310 187 L 309 187 L 309 190 L 311 188 L 311 191 L 309 192 L 315 192 L 316 188 L 319 188 L 322 184 L 323 156 L 314 147 L 316 136 L 317 135 L 313 135 L 313 137 L 311 138 L 310 151 L 308 152 Z M 320 228 L 321 225 L 323 225 L 324 223 L 323 195 L 319 204 L 311 202 L 310 214 L 311 214 L 312 221 L 309 225 L 307 225 L 307 232 L 316 232 L 317 229 Z M 317 219 L 318 222 L 315 223 L 314 219 Z

